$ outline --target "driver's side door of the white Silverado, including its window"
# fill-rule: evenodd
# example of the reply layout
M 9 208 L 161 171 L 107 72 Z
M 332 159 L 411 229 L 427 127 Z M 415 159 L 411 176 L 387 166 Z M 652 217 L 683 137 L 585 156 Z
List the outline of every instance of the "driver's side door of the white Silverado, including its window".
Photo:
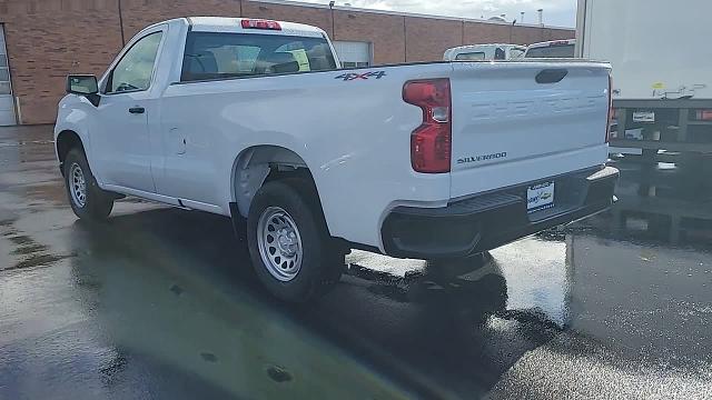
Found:
M 95 172 L 105 184 L 156 191 L 149 117 L 156 111 L 151 79 L 162 38 L 164 28 L 157 27 L 135 40 L 107 77 L 98 107 L 101 127 L 91 132 Z

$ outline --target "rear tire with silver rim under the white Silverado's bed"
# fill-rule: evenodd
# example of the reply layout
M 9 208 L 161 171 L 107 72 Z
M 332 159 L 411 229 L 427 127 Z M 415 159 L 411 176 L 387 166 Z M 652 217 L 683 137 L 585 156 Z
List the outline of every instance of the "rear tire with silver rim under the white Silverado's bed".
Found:
M 247 216 L 247 243 L 257 277 L 284 301 L 319 298 L 344 269 L 344 252 L 333 246 L 316 189 L 305 179 L 267 182 L 257 191 Z

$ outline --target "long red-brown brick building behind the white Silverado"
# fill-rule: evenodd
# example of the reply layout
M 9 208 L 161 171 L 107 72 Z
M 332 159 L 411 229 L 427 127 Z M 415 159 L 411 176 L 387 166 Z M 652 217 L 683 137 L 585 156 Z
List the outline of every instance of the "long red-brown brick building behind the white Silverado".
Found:
M 100 76 L 141 28 L 185 16 L 317 26 L 329 33 L 342 59 L 359 66 L 439 60 L 445 49 L 461 44 L 574 37 L 571 29 L 278 0 L 0 0 L 0 116 L 4 112 L 7 121 L 14 114 L 19 123 L 53 122 L 70 71 Z

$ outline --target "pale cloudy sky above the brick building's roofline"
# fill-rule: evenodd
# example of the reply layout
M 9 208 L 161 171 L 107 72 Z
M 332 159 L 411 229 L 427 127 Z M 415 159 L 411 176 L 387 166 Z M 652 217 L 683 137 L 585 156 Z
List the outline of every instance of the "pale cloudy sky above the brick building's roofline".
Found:
M 298 0 L 328 4 L 328 0 Z M 506 20 L 536 23 L 536 10 L 544 9 L 544 23 L 558 27 L 576 26 L 576 0 L 338 0 L 337 6 L 378 10 L 417 12 L 434 16 L 482 18 L 506 14 Z

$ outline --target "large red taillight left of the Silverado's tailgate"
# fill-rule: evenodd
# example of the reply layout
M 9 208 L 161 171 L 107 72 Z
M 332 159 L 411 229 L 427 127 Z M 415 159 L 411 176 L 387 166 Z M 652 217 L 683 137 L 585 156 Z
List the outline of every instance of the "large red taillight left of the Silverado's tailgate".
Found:
M 411 164 L 417 172 L 449 172 L 452 154 L 449 79 L 408 81 L 403 100 L 423 110 L 423 123 L 411 133 Z

